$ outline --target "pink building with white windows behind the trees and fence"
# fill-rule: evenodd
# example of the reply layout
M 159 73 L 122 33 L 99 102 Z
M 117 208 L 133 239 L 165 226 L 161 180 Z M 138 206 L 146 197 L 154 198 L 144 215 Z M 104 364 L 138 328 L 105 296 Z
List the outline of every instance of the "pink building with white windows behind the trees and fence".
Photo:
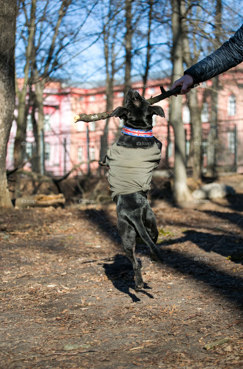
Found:
M 242 64 L 243 65 L 243 64 Z M 18 81 L 21 85 L 21 80 Z M 170 79 L 148 80 L 146 85 L 145 98 L 160 94 L 160 86 L 169 89 Z M 202 107 L 203 139 L 206 137 L 210 128 L 211 113 L 211 81 L 204 82 L 197 87 L 199 104 Z M 221 134 L 221 150 L 219 165 L 226 166 L 226 160 L 231 164 L 237 165 L 237 172 L 243 171 L 243 95 L 240 93 L 243 86 L 243 69 L 240 66 L 231 69 L 219 76 L 218 94 L 218 131 Z M 98 159 L 100 158 L 100 141 L 103 135 L 105 121 L 90 123 L 73 122 L 73 117 L 80 113 L 99 113 L 106 110 L 106 95 L 104 87 L 84 88 L 65 87 L 59 82 L 50 82 L 44 90 L 44 142 L 45 142 L 45 173 L 49 175 L 64 175 L 74 165 L 89 160 L 96 162 L 90 163 L 90 169 L 96 172 Z M 142 94 L 142 83 L 133 83 L 132 88 Z M 114 108 L 122 106 L 124 86 L 114 87 Z M 171 97 L 170 99 L 173 99 Z M 189 153 L 190 141 L 190 113 L 186 104 L 186 99 L 190 99 L 190 93 L 183 97 L 183 123 L 187 137 L 186 151 Z M 174 162 L 174 138 L 173 129 L 170 127 L 168 136 L 169 120 L 169 99 L 160 101 L 160 105 L 166 117 L 153 116 L 153 134 L 163 143 L 162 162 L 163 166 L 173 167 Z M 31 112 L 30 112 L 31 113 Z M 38 113 L 35 113 L 38 120 Z M 15 111 L 15 117 L 17 110 Z M 123 122 L 119 118 L 110 118 L 108 145 L 119 137 Z M 16 134 L 16 121 L 10 132 L 7 152 L 7 169 L 13 168 L 13 145 Z M 169 138 L 169 141 L 168 141 Z M 168 141 L 168 142 L 167 142 Z M 200 144 L 204 144 L 202 142 Z M 31 124 L 31 114 L 27 118 L 27 137 L 23 149 L 31 156 L 33 152 L 34 136 Z M 206 166 L 206 145 L 203 146 L 204 165 Z M 167 149 L 167 155 L 166 155 Z M 27 156 L 26 156 L 27 158 Z M 31 164 L 27 163 L 26 169 L 30 169 Z M 73 171 L 72 175 L 86 173 L 87 163 L 83 163 Z M 34 168 L 32 168 L 34 170 Z

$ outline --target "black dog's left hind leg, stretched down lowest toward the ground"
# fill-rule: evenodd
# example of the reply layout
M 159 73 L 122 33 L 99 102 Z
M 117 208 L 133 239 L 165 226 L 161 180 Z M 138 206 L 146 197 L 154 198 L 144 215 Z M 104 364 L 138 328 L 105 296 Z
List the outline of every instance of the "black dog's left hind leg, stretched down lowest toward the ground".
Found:
M 135 273 L 135 291 L 138 292 L 143 288 L 143 278 L 140 265 L 135 256 L 136 231 L 126 221 L 118 221 L 117 224 L 126 256 L 132 262 Z

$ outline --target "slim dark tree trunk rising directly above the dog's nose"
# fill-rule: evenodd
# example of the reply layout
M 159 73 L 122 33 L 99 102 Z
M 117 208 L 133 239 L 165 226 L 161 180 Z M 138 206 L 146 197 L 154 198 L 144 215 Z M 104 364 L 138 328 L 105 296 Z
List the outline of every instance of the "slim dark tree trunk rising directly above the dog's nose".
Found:
M 125 86 L 123 106 L 126 103 L 126 94 L 131 89 L 131 60 L 132 60 L 132 0 L 126 0 L 126 34 L 125 34 Z

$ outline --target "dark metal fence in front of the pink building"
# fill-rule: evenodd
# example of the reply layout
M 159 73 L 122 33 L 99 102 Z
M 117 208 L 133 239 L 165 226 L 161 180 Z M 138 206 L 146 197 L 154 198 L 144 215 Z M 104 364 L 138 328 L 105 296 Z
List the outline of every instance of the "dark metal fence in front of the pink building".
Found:
M 110 147 L 119 137 L 118 131 L 109 130 L 108 147 Z M 167 126 L 154 127 L 154 135 L 162 142 L 162 159 L 159 169 L 173 168 L 174 166 L 174 133 L 172 127 L 168 132 Z M 190 125 L 185 125 L 186 153 L 190 153 Z M 101 142 L 103 131 L 69 131 L 45 132 L 44 134 L 44 166 L 45 174 L 50 176 L 63 176 L 75 165 L 82 163 L 72 172 L 72 176 L 86 174 L 89 170 L 93 173 L 99 172 L 98 160 L 100 159 Z M 216 138 L 215 138 L 216 137 Z M 236 125 L 221 124 L 214 135 L 212 142 L 212 130 L 209 125 L 202 128 L 201 159 L 203 171 L 211 169 L 212 166 L 222 172 L 243 172 L 243 131 L 238 130 Z M 195 145 L 195 143 L 194 143 Z M 7 169 L 14 168 L 13 161 L 14 138 L 10 137 L 8 142 Z M 212 150 L 212 146 L 213 150 Z M 22 146 L 23 160 L 31 157 L 34 153 L 35 145 L 33 137 L 27 134 L 26 143 Z M 209 163 L 209 152 L 213 152 L 214 160 Z M 90 162 L 88 165 L 88 161 Z M 187 167 L 192 166 L 190 158 L 187 160 Z M 32 159 L 25 165 L 25 169 L 35 171 L 36 162 Z

